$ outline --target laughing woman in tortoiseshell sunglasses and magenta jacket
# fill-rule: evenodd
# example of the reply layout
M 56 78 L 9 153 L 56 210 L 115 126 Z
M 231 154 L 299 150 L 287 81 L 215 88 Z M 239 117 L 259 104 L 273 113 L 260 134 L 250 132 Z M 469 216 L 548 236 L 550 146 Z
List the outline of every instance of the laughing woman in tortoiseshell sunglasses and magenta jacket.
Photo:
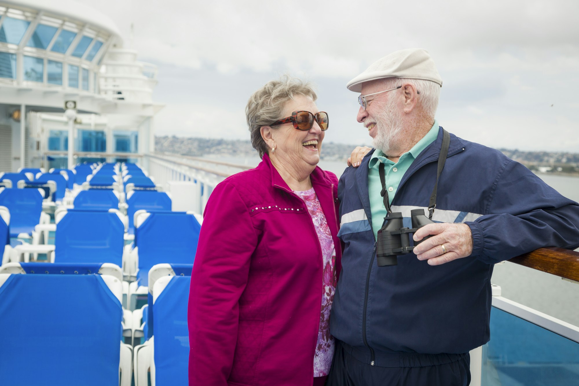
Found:
M 328 114 L 309 83 L 267 83 L 245 112 L 255 169 L 207 202 L 189 295 L 190 385 L 323 385 L 340 270 L 338 179 L 317 167 Z

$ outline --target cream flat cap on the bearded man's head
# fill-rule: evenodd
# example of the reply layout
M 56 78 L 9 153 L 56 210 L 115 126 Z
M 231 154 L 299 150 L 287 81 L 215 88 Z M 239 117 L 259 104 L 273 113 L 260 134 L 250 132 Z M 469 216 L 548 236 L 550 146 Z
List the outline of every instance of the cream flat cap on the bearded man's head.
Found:
M 376 60 L 366 71 L 348 82 L 346 87 L 350 91 L 359 93 L 362 91 L 364 82 L 392 77 L 424 79 L 438 83 L 442 87 L 442 79 L 434 65 L 434 60 L 428 51 L 422 48 L 395 51 Z

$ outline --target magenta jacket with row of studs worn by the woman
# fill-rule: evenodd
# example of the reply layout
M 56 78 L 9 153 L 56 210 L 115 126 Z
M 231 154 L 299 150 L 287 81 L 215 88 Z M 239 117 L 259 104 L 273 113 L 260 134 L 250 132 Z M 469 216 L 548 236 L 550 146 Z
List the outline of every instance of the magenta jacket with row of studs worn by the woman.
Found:
M 310 175 L 336 246 L 338 179 Z M 306 204 L 269 157 L 215 187 L 189 293 L 189 385 L 312 385 L 323 265 Z

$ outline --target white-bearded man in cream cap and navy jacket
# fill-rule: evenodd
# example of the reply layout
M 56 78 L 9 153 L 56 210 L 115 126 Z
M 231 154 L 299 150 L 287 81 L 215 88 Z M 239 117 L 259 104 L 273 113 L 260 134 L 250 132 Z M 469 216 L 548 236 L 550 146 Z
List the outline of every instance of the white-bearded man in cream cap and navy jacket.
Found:
M 339 181 L 345 249 L 330 386 L 468 385 L 468 352 L 490 337 L 493 264 L 579 246 L 576 202 L 501 152 L 438 126 L 441 86 L 423 49 L 391 53 L 347 84 L 361 93 L 357 119 L 375 150 Z M 397 265 L 380 266 L 378 231 L 396 212 L 411 228 L 416 209 L 435 223 L 413 241 L 430 237 Z

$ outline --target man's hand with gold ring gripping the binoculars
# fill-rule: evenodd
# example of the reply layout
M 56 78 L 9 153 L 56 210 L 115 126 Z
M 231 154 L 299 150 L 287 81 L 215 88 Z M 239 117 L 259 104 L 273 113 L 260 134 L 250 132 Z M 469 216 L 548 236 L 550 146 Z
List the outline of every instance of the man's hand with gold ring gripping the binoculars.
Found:
M 457 258 L 470 256 L 472 253 L 472 233 L 467 224 L 424 225 L 415 232 L 413 239 L 420 241 L 428 235 L 434 236 L 415 246 L 413 252 L 418 260 L 428 260 L 430 265 L 448 263 Z

